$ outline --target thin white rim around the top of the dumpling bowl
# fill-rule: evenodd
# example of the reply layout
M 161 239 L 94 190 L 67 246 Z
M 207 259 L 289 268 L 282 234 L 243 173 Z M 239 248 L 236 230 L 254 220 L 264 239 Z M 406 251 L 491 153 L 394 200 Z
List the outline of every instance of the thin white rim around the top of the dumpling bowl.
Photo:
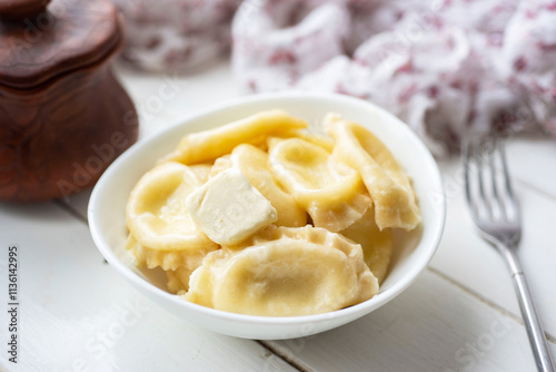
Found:
M 423 154 L 424 160 L 427 161 L 427 168 L 431 170 L 431 183 L 433 185 L 438 187 L 438 190 L 441 192 L 440 197 L 437 200 L 437 213 L 439 213 L 438 223 L 435 226 L 431 226 L 433 237 L 430 239 L 430 248 L 421 253 L 418 260 L 411 265 L 411 267 L 405 273 L 405 275 L 395 282 L 390 287 L 388 287 L 385 292 L 379 292 L 371 298 L 361 302 L 356 305 L 351 305 L 348 307 L 344 307 L 340 310 L 336 310 L 332 312 L 320 313 L 320 314 L 310 314 L 310 315 L 296 315 L 296 316 L 262 316 L 262 315 L 248 315 L 248 314 L 239 314 L 231 313 L 227 311 L 216 310 L 211 307 L 206 307 L 199 304 L 187 302 L 175 294 L 162 291 L 156 285 L 147 282 L 146 280 L 138 276 L 133 273 L 123 262 L 121 262 L 116 253 L 110 248 L 110 245 L 105 239 L 101 228 L 99 225 L 99 216 L 96 214 L 96 206 L 101 202 L 102 194 L 106 192 L 105 187 L 108 180 L 112 177 L 113 174 L 117 174 L 119 168 L 122 167 L 128 160 L 128 158 L 132 158 L 136 153 L 140 151 L 142 146 L 150 141 L 160 140 L 161 137 L 167 136 L 168 131 L 178 130 L 178 127 L 188 126 L 189 123 L 193 120 L 198 120 L 203 116 L 209 114 L 215 114 L 216 111 L 222 111 L 226 109 L 230 109 L 236 106 L 256 104 L 260 101 L 269 101 L 275 99 L 321 99 L 321 100 L 335 100 L 335 101 L 344 101 L 347 105 L 356 105 L 356 106 L 367 106 L 367 109 L 374 109 L 378 111 L 381 116 L 389 117 L 389 120 L 397 121 L 404 127 L 404 130 L 407 130 L 407 138 L 413 143 L 413 145 Z M 151 292 L 157 297 L 161 297 L 165 301 L 170 301 L 178 306 L 186 307 L 187 311 L 198 311 L 203 313 L 205 316 L 210 316 L 214 319 L 232 321 L 235 323 L 242 324 L 251 324 L 251 323 L 266 323 L 268 325 L 298 325 L 306 323 L 318 323 L 322 321 L 330 321 L 335 317 L 344 317 L 350 316 L 361 312 L 364 309 L 367 310 L 366 313 L 371 312 L 373 310 L 380 307 L 394 300 L 397 295 L 404 292 L 411 283 L 414 283 L 418 275 L 427 267 L 428 263 L 433 258 L 436 253 L 440 238 L 444 233 L 445 222 L 446 222 L 446 197 L 443 187 L 443 180 L 440 170 L 438 165 L 436 164 L 430 150 L 426 147 L 423 140 L 415 134 L 414 130 L 409 128 L 407 124 L 400 120 L 398 117 L 381 108 L 380 106 L 369 102 L 367 100 L 363 100 L 359 98 L 339 95 L 339 94 L 330 94 L 330 92 L 307 92 L 300 90 L 285 90 L 280 92 L 266 92 L 266 94 L 257 94 L 252 96 L 239 97 L 230 100 L 226 100 L 216 105 L 210 105 L 207 108 L 195 110 L 189 115 L 180 118 L 176 123 L 168 125 L 163 129 L 158 130 L 157 133 L 150 135 L 148 138 L 137 141 L 130 148 L 128 148 L 122 155 L 120 155 L 101 175 L 99 180 L 97 182 L 90 199 L 88 204 L 88 222 L 89 229 L 92 236 L 92 239 L 100 251 L 102 256 L 108 261 L 108 263 L 113 266 L 113 268 L 123 277 L 130 282 L 136 287 L 143 287 L 146 291 Z M 187 309 L 189 307 L 189 309 Z

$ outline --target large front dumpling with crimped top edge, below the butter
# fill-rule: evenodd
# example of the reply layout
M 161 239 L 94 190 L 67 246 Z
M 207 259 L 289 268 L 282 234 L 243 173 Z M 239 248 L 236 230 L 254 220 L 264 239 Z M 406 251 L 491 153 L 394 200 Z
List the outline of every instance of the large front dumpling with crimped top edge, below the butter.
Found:
M 360 245 L 324 228 L 275 227 L 209 253 L 185 298 L 234 313 L 318 314 L 369 300 L 377 278 Z

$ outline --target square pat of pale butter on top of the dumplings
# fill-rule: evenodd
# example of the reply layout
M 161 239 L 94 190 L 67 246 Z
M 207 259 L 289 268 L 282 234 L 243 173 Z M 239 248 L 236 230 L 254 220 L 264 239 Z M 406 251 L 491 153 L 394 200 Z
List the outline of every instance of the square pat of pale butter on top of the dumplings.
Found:
M 212 242 L 232 245 L 278 219 L 276 209 L 241 170 L 231 168 L 191 193 L 186 208 Z

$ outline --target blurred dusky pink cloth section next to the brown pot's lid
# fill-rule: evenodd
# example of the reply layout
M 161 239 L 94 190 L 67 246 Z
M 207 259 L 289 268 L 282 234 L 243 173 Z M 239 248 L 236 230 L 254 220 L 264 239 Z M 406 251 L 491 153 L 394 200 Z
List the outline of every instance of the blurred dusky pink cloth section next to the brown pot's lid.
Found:
M 112 0 L 123 16 L 121 57 L 148 71 L 181 71 L 226 53 L 240 0 Z

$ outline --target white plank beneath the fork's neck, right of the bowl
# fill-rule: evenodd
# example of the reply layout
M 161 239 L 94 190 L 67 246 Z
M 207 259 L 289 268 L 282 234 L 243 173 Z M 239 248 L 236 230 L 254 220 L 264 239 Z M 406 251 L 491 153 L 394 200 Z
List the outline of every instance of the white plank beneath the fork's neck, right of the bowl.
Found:
M 532 165 L 532 168 L 535 166 Z M 431 266 L 473 292 L 520 316 L 508 271 L 498 253 L 477 234 L 465 203 L 459 163 L 441 163 L 447 194 L 445 233 Z M 523 213 L 519 257 L 545 329 L 556 335 L 556 203 L 535 189 L 516 185 Z

